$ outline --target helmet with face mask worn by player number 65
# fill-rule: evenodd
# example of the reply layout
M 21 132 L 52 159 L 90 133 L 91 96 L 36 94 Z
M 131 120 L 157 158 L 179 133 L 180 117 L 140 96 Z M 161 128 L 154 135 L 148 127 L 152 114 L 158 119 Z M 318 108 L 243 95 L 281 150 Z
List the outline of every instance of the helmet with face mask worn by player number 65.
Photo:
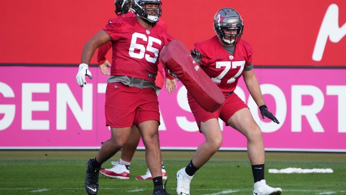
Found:
M 156 4 L 155 8 L 146 8 L 145 4 Z M 158 18 L 161 16 L 162 2 L 160 0 L 134 0 L 131 9 L 135 12 L 135 14 L 141 18 L 143 18 L 146 22 L 156 23 L 158 22 Z

